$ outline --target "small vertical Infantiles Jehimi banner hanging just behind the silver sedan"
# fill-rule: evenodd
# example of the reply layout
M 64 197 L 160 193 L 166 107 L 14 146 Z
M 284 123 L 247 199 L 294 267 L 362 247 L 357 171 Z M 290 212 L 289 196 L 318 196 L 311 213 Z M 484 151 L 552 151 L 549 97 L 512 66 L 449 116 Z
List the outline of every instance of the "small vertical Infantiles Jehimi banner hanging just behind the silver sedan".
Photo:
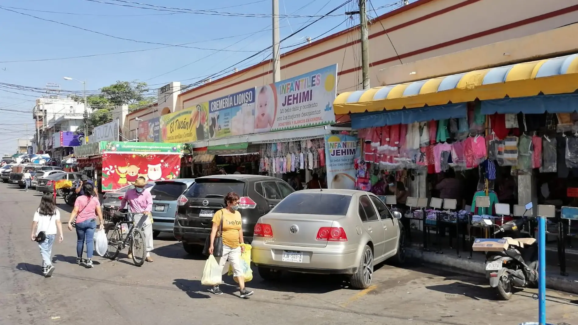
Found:
M 360 156 L 357 136 L 325 135 L 327 188 L 355 190 L 354 158 Z

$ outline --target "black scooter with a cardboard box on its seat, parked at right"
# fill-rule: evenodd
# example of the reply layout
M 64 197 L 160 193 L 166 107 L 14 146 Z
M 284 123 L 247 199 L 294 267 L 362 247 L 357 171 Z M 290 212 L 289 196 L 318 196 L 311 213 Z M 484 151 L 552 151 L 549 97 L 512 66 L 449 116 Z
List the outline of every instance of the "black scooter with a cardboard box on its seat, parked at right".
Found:
M 494 235 L 503 233 L 510 236 L 478 238 L 473 242 L 472 250 L 486 252 L 486 278 L 490 279 L 490 287 L 495 288 L 504 300 L 510 300 L 512 287 L 537 286 L 538 243 L 535 238 L 525 238 L 521 233 L 526 217 L 508 221 L 502 226 L 488 219 L 484 222 L 498 227 Z

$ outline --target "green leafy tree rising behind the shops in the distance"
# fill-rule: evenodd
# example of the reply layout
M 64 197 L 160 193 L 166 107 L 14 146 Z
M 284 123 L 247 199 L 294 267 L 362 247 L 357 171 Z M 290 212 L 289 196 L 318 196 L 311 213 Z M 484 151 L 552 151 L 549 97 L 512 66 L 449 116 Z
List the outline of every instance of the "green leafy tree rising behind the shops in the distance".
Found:
M 148 96 L 149 87 L 146 82 L 117 81 L 110 86 L 102 87 L 97 95 L 87 97 L 88 106 L 92 108 L 92 113 L 88 116 L 88 128 L 92 130 L 98 125 L 112 121 L 112 110 L 117 106 L 127 104 L 129 109 L 135 109 L 153 104 L 156 101 L 154 96 Z M 84 97 L 73 97 L 77 102 L 84 102 Z M 84 125 L 79 131 L 84 130 Z

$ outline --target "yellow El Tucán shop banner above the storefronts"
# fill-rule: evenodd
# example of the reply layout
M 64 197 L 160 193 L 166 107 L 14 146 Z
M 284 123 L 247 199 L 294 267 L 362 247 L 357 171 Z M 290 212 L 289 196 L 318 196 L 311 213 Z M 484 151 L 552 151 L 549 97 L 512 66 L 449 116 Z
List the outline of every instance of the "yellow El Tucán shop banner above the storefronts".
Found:
M 204 102 L 187 109 L 179 110 L 179 112 L 161 116 L 161 142 L 189 143 L 208 139 L 208 105 L 208 102 Z

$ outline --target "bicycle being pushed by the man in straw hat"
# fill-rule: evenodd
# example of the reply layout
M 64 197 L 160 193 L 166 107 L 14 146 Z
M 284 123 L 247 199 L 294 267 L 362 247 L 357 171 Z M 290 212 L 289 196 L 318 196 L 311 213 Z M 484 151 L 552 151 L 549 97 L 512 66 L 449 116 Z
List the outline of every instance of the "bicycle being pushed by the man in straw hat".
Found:
M 112 213 L 112 217 L 105 216 L 106 221 L 111 223 L 106 224 L 105 233 L 108 239 L 108 249 L 104 257 L 114 260 L 117 258 L 121 250 L 129 247 L 132 252 L 132 261 L 136 266 L 140 267 L 144 264 L 146 258 L 146 241 L 142 227 L 146 217 L 141 217 L 138 224 L 135 224 L 135 215 L 142 213 L 123 212 L 116 210 Z M 123 224 L 130 225 L 129 230 L 123 237 Z M 139 250 L 141 249 L 141 250 Z

